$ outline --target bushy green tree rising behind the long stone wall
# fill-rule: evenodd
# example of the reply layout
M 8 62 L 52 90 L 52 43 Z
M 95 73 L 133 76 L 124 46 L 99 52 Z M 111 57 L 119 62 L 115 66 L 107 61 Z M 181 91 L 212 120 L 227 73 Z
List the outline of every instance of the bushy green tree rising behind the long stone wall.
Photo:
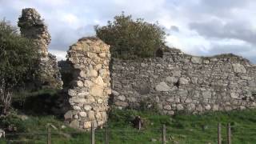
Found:
M 114 17 L 106 26 L 94 26 L 97 37 L 110 45 L 114 58 L 153 57 L 156 50 L 165 44 L 166 33 L 158 23 L 135 21 L 124 13 Z

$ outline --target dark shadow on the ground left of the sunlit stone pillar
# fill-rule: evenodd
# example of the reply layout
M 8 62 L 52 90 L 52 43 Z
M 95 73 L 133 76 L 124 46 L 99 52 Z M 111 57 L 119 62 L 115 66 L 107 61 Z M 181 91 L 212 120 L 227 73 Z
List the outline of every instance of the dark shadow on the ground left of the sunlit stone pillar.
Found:
M 14 95 L 12 106 L 26 115 L 46 116 L 55 115 L 61 118 L 58 103 L 64 101 L 61 90 L 23 91 Z

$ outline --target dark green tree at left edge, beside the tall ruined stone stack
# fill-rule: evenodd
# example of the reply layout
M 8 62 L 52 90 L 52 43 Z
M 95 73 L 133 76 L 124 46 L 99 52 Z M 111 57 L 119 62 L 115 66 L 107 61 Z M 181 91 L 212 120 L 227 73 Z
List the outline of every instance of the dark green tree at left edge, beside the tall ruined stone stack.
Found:
M 0 106 L 1 114 L 10 109 L 15 88 L 30 77 L 30 72 L 38 62 L 38 52 L 27 38 L 18 34 L 10 22 L 0 21 Z

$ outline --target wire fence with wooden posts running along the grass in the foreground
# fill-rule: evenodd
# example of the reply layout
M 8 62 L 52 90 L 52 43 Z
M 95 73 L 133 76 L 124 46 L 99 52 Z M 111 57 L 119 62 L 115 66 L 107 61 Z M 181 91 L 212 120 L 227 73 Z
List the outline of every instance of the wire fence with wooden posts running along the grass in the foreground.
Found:
M 139 128 L 140 129 L 140 128 Z M 103 129 L 90 131 L 58 131 L 48 128 L 38 133 L 8 133 L 0 143 L 47 143 L 47 144 L 231 144 L 256 143 L 256 127 L 226 125 L 177 129 L 162 125 L 154 129 Z M 198 133 L 200 131 L 200 133 Z M 203 132 L 203 133 L 202 133 Z

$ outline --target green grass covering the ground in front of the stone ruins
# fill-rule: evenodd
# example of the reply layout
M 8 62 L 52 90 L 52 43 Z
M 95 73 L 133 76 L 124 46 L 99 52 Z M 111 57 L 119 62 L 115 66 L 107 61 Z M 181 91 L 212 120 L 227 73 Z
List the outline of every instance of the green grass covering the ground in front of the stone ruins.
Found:
M 43 95 L 46 95 L 46 98 L 54 97 L 54 93 L 49 92 Z M 69 128 L 63 123 L 62 118 L 52 114 L 40 114 L 40 109 L 36 112 L 28 110 L 26 118 L 23 118 L 24 116 L 19 114 L 21 111 L 16 110 L 8 118 L 0 118 L 0 126 L 17 127 L 17 132 L 20 134 L 7 134 L 6 137 L 6 139 L 14 140 L 13 143 L 46 143 L 48 126 L 51 126 L 54 144 L 90 143 L 89 132 Z M 145 121 L 144 130 L 138 131 L 131 125 L 132 119 L 137 115 Z M 109 139 L 110 144 L 161 143 L 162 124 L 166 124 L 167 143 L 217 143 L 218 122 L 222 123 L 222 143 L 226 142 L 226 123 L 228 122 L 231 124 L 232 143 L 256 143 L 256 110 L 166 116 L 149 110 L 113 109 L 109 113 Z M 96 130 L 95 138 L 96 143 L 104 143 L 105 130 Z M 0 143 L 6 143 L 6 141 Z

